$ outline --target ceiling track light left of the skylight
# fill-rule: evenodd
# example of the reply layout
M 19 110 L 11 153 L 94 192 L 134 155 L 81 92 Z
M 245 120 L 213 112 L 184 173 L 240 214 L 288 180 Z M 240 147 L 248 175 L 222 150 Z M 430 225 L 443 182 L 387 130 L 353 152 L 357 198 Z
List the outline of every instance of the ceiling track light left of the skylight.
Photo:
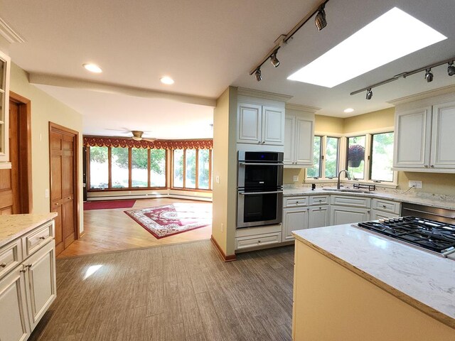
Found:
M 304 16 L 304 18 L 299 21 L 299 23 L 296 23 L 296 26 L 291 29 L 287 34 L 282 34 L 279 36 L 277 40 L 275 40 L 275 45 L 272 48 L 272 50 L 265 55 L 262 60 L 256 64 L 254 68 L 250 70 L 250 75 L 255 75 L 256 80 L 259 82 L 262 80 L 261 77 L 261 70 L 260 67 L 264 65 L 265 62 L 270 58 L 270 63 L 274 67 L 278 67 L 279 65 L 279 60 L 277 59 L 277 51 L 279 48 L 282 48 L 284 43 L 287 43 L 289 39 L 294 36 L 294 34 L 299 31 L 300 28 L 302 28 L 307 21 L 309 21 L 313 16 L 316 14 L 316 17 L 314 18 L 314 23 L 316 24 L 316 28 L 318 28 L 318 31 L 321 31 L 324 27 L 327 26 L 327 21 L 326 21 L 326 11 L 325 11 L 325 6 L 328 3 L 329 0 L 319 0 L 318 3 L 309 11 L 309 13 Z M 259 70 L 259 72 L 258 72 Z

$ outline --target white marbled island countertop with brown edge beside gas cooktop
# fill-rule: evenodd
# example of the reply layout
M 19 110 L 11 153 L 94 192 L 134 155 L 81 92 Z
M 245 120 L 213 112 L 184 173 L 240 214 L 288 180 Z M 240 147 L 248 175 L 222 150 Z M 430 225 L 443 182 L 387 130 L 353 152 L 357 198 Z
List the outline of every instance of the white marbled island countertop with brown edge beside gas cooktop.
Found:
M 455 328 L 455 260 L 350 224 L 302 229 L 292 234 L 298 242 Z

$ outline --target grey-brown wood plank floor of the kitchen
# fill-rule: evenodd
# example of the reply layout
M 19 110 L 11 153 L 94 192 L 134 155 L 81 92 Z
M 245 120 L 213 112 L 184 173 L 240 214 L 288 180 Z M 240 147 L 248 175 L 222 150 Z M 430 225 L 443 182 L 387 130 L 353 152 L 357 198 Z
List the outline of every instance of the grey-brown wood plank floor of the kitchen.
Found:
M 57 260 L 29 340 L 291 340 L 294 247 L 220 260 L 210 241 Z

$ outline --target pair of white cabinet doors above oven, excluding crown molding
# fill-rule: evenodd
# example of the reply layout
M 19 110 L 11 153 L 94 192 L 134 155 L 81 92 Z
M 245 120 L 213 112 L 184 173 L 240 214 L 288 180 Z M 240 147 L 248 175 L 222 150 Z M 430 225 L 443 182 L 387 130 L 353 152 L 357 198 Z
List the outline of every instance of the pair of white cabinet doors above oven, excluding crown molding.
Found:
M 282 146 L 284 144 L 284 108 L 238 103 L 237 143 Z

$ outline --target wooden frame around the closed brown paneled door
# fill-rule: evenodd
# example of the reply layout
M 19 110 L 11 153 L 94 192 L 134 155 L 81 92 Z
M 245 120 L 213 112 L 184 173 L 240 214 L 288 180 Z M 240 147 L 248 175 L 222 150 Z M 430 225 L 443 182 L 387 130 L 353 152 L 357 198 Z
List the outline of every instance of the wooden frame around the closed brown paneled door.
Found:
M 79 205 L 79 131 L 75 131 L 73 129 L 69 129 L 65 126 L 60 126 L 60 124 L 55 124 L 51 121 L 49 121 L 49 188 L 50 188 L 50 193 L 52 193 L 52 172 L 51 172 L 51 167 L 52 165 L 50 164 L 50 132 L 58 132 L 60 134 L 64 135 L 70 135 L 70 136 L 75 136 L 74 140 L 74 146 L 73 146 L 73 165 L 74 167 L 74 174 L 73 174 L 73 193 L 74 193 L 74 200 L 73 200 L 73 205 L 74 205 L 74 212 L 75 212 L 75 240 L 80 238 L 80 218 L 79 218 L 79 213 L 80 213 L 80 205 Z M 52 212 L 52 197 L 50 197 L 49 200 L 49 209 L 50 212 Z

